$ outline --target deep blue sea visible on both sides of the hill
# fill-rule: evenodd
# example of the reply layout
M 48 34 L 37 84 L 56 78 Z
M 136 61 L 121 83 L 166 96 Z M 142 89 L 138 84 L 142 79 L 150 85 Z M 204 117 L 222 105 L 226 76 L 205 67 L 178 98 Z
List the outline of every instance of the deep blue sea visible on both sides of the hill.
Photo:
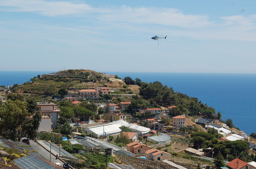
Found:
M 0 71 L 0 85 L 22 84 L 40 74 L 53 71 Z M 105 72 L 120 78 L 139 78 L 143 82 L 159 81 L 196 97 L 222 114 L 222 120 L 232 119 L 236 127 L 248 135 L 256 133 L 256 74 L 225 73 L 135 73 Z

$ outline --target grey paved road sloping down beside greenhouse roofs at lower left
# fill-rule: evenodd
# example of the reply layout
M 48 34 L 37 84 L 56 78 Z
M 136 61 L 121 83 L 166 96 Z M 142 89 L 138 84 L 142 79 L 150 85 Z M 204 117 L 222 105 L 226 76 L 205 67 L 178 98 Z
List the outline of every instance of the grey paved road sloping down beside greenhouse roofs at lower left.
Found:
M 38 143 L 36 143 L 33 140 L 30 140 L 30 145 L 32 149 L 38 152 L 38 154 L 40 154 L 41 156 L 46 158 L 48 161 L 50 161 L 50 152 L 48 152 L 46 149 L 44 149 L 42 146 L 40 146 Z M 61 166 L 63 164 L 61 160 L 59 159 L 56 160 L 56 157 L 53 154 L 51 154 L 51 162 L 53 163 L 59 162 Z

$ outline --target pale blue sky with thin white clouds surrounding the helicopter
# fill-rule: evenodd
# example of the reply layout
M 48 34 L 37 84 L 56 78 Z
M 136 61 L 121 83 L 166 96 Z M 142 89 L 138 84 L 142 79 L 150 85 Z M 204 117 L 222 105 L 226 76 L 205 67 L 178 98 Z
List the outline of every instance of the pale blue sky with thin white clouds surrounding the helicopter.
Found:
M 0 70 L 256 73 L 256 1 L 0 0 Z M 157 41 L 153 35 L 167 36 Z

